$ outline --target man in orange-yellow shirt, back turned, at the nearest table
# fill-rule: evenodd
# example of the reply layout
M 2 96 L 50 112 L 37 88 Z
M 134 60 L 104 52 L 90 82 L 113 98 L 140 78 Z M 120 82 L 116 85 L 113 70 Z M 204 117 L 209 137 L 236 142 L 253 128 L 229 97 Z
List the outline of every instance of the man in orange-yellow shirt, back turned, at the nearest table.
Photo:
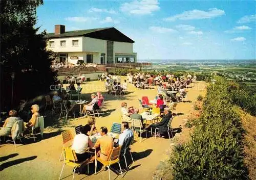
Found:
M 100 150 L 97 152 L 97 156 L 100 157 L 101 160 L 107 161 L 110 155 L 111 149 L 113 149 L 113 138 L 108 134 L 108 128 L 100 127 L 100 136 L 101 138 L 97 139 L 94 147 L 99 148 Z

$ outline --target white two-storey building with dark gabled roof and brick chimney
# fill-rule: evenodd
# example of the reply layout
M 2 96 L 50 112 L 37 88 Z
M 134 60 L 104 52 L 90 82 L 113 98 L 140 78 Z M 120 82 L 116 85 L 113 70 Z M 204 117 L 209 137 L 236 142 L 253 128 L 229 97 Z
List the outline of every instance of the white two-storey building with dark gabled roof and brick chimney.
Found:
M 65 25 L 55 25 L 55 32 L 48 33 L 47 48 L 57 54 L 56 61 L 76 64 L 134 63 L 134 41 L 115 28 L 100 28 L 65 32 Z M 79 62 L 80 62 L 79 61 Z

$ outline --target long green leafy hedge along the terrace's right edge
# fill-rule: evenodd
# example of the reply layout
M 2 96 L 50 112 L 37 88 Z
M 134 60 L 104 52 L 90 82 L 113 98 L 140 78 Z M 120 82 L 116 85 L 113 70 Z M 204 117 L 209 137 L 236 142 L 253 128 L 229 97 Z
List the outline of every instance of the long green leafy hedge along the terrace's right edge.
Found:
M 241 119 L 232 105 L 229 83 L 216 80 L 207 88 L 190 141 L 176 146 L 170 157 L 174 179 L 248 179 Z

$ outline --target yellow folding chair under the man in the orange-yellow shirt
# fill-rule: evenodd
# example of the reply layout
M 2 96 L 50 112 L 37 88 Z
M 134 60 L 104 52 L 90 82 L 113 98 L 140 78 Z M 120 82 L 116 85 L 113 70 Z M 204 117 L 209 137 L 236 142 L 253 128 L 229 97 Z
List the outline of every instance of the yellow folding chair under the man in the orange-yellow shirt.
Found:
M 95 153 L 96 153 L 96 151 L 95 151 Z M 95 162 L 95 174 L 96 174 L 96 170 L 97 170 L 97 162 L 99 161 L 103 166 L 106 166 L 109 169 L 109 180 L 110 180 L 110 166 L 113 165 L 113 164 L 118 163 L 120 171 L 121 171 L 121 175 L 123 177 L 121 165 L 120 165 L 120 162 L 119 162 L 119 159 L 120 159 L 119 154 L 120 154 L 120 146 L 116 147 L 116 148 L 113 148 L 111 150 L 110 156 L 108 157 L 107 161 L 103 161 L 99 157 L 96 158 L 95 159 L 96 160 L 96 162 Z

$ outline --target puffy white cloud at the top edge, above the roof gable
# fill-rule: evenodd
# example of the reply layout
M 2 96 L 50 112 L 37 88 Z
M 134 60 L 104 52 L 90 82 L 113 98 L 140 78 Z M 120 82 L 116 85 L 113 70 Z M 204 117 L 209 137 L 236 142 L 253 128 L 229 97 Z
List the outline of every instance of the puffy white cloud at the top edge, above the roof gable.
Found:
M 131 3 L 123 3 L 120 7 L 122 12 L 130 14 L 151 14 L 154 11 L 158 11 L 158 0 L 134 0 Z

